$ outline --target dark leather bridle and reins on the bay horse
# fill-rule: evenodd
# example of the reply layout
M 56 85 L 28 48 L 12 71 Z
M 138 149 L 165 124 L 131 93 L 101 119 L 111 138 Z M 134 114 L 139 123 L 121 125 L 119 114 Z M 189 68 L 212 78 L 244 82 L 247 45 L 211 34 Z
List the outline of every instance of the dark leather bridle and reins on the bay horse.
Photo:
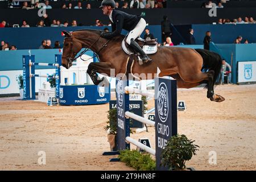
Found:
M 68 60 L 68 68 L 70 67 L 69 65 L 72 64 L 73 61 L 75 61 L 77 58 L 79 58 L 79 57 L 81 57 L 82 55 L 84 55 L 85 52 L 89 51 L 89 49 L 92 48 L 92 46 L 93 46 L 100 38 L 101 38 L 101 36 L 98 36 L 98 38 L 90 45 L 90 47 L 85 48 L 84 51 L 82 51 L 78 56 L 76 56 L 77 53 L 76 53 L 75 51 L 73 51 L 73 38 L 72 38 L 72 37 L 65 38 L 65 39 L 71 39 L 71 40 L 72 40 L 72 41 L 71 41 L 71 51 L 69 51 L 68 56 L 62 57 L 62 58 L 64 58 L 64 59 L 67 59 L 67 60 Z M 65 39 L 64 39 L 64 40 L 65 40 Z M 93 59 L 94 57 L 97 57 L 97 58 L 98 58 L 98 54 L 100 53 L 100 51 L 101 51 L 104 47 L 107 46 L 107 44 L 110 42 L 110 40 L 111 40 L 111 39 L 109 39 L 105 44 L 103 44 L 102 47 L 100 48 L 100 50 L 98 50 L 98 51 L 96 51 L 96 52 L 93 51 L 93 52 L 94 52 L 94 56 L 93 56 L 93 57 L 90 57 L 89 59 Z M 84 48 L 84 47 L 82 47 L 82 48 Z M 72 53 L 75 55 L 74 58 L 71 57 Z M 89 59 L 84 60 L 84 59 L 82 59 L 82 57 L 81 57 L 81 60 L 83 60 L 83 61 L 88 61 Z

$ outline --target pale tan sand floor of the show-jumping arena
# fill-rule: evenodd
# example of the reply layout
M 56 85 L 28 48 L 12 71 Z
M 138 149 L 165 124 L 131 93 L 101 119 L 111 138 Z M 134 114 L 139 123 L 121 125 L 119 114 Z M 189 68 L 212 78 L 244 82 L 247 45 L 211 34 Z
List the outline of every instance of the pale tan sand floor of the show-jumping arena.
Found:
M 210 102 L 202 88 L 179 89 L 187 111 L 178 112 L 178 133 L 196 140 L 197 155 L 187 163 L 196 170 L 256 169 L 256 85 L 220 85 L 216 93 L 226 100 Z M 1 170 L 133 170 L 110 163 L 106 125 L 109 105 L 46 106 L 42 102 L 0 98 Z M 149 102 L 154 106 L 154 101 Z M 133 134 L 148 137 L 155 131 Z M 46 152 L 46 165 L 38 152 Z M 210 165 L 209 152 L 217 153 Z

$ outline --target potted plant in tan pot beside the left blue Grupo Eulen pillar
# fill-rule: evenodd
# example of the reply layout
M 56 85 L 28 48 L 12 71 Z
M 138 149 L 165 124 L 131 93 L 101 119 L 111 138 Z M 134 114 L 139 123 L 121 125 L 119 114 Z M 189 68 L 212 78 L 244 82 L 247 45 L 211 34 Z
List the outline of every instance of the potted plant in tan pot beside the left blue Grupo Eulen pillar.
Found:
M 117 134 L 117 109 L 110 109 L 108 111 L 108 121 L 104 129 L 108 133 L 108 142 L 110 144 L 110 150 L 115 150 L 115 135 Z

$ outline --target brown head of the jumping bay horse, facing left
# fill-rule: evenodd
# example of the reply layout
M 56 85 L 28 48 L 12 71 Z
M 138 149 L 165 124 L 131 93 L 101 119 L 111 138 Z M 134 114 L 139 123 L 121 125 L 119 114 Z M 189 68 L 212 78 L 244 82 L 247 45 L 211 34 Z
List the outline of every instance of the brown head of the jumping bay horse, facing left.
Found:
M 61 64 L 65 68 L 70 68 L 72 66 L 72 62 L 75 60 L 77 53 L 82 49 L 82 44 L 79 41 L 75 41 L 71 32 L 63 31 L 65 36 L 63 53 L 61 57 Z

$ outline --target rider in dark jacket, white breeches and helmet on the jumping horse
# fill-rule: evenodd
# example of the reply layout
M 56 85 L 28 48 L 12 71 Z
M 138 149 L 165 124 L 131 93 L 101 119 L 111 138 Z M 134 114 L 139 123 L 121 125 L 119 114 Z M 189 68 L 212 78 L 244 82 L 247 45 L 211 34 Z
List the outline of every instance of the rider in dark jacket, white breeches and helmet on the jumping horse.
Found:
M 136 52 L 139 52 L 142 61 L 151 61 L 150 57 L 144 53 L 135 39 L 138 38 L 146 27 L 146 21 L 141 16 L 130 15 L 123 11 L 115 10 L 114 0 L 103 0 L 100 8 L 103 14 L 108 15 L 112 24 L 112 32 L 102 32 L 101 37 L 112 39 L 114 36 L 120 35 L 122 28 L 129 31 L 126 42 Z

